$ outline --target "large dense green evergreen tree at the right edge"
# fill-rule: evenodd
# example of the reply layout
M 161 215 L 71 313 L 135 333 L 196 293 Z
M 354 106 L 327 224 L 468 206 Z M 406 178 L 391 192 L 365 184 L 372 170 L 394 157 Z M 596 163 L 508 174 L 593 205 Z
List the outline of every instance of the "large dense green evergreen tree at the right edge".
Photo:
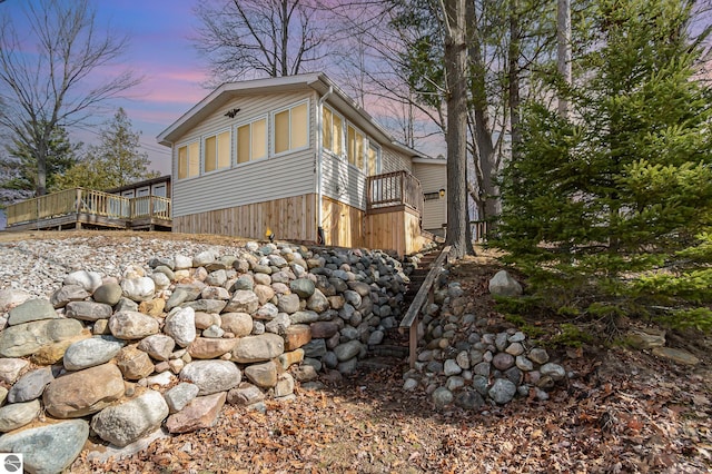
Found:
M 712 328 L 711 91 L 692 0 L 597 0 L 580 80 L 523 118 L 495 245 L 563 314 Z M 698 39 L 699 41 L 700 39 Z

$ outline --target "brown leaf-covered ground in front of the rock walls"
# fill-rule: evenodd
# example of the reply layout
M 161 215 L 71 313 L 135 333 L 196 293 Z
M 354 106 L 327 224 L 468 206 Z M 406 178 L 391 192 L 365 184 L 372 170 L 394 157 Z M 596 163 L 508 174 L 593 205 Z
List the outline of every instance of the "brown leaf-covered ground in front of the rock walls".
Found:
M 81 233 L 0 233 L 7 239 Z M 89 234 L 91 235 L 91 234 Z M 120 233 L 235 245 L 215 236 Z M 473 308 L 503 322 L 488 297 L 498 268 L 492 255 L 457 263 L 452 279 Z M 553 334 L 556 322 L 528 324 Z M 710 337 L 670 334 L 669 344 L 702 362 L 680 366 L 620 345 L 560 348 L 574 378 L 545 402 L 516 399 L 483 411 L 436 411 L 424 393 L 402 389 L 405 365 L 325 378 L 326 389 L 297 387 L 296 399 L 265 413 L 227 406 L 209 429 L 162 438 L 120 461 L 77 473 L 708 473 L 712 472 Z M 555 348 L 552 348 L 555 350 Z M 97 442 L 97 440 L 93 440 Z M 95 446 L 96 447 L 96 446 Z

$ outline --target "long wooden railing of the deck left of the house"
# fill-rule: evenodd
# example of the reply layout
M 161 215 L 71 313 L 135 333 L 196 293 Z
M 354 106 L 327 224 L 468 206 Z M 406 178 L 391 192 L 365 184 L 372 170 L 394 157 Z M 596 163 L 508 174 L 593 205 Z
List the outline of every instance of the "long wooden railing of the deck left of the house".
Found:
M 8 227 L 79 214 L 110 219 L 156 217 L 170 220 L 170 199 L 159 196 L 126 198 L 91 189 L 72 188 L 27 199 L 6 209 Z

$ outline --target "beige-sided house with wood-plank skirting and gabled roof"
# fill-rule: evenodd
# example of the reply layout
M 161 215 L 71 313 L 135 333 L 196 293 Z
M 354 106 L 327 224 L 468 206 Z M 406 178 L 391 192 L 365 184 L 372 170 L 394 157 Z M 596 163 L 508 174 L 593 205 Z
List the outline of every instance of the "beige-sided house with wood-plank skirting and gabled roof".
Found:
M 421 182 L 445 190 L 445 160 L 396 142 L 324 73 L 225 83 L 158 141 L 175 231 L 403 255 L 427 240 L 422 223 L 442 228 Z

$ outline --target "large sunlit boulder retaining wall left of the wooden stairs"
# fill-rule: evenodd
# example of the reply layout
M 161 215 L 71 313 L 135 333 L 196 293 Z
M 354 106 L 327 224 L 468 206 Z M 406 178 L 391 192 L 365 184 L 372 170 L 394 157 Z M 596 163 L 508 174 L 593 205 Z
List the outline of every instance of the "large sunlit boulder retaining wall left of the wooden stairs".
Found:
M 249 243 L 72 271 L 47 299 L 0 290 L 0 452 L 59 472 L 90 428 L 126 446 L 211 426 L 225 403 L 288 399 L 323 366 L 354 372 L 407 283 L 380 251 Z

